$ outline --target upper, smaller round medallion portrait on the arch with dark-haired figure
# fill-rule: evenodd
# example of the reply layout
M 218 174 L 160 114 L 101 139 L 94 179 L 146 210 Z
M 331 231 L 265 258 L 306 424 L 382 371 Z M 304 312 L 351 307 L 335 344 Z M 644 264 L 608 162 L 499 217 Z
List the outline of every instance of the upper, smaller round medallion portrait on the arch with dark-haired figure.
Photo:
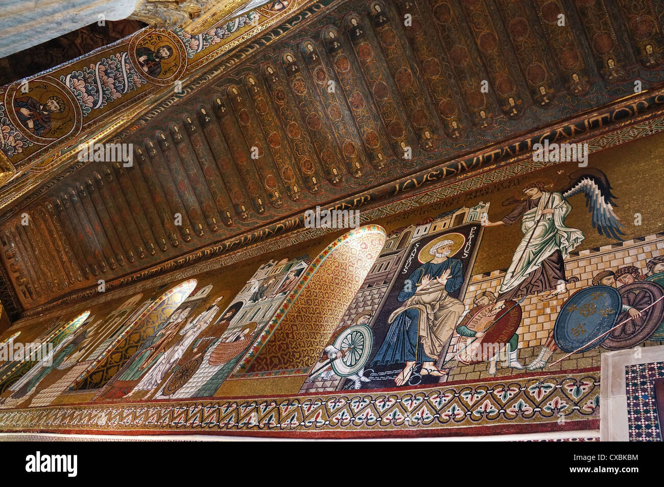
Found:
M 185 45 L 177 35 L 161 29 L 134 36 L 129 58 L 143 78 L 159 85 L 179 80 L 187 68 Z

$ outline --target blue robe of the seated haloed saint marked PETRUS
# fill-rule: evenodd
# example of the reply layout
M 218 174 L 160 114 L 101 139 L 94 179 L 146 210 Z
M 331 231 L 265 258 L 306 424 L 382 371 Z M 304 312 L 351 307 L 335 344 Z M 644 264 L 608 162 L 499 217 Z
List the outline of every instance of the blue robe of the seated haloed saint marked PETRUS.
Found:
M 431 276 L 435 279 L 448 269 L 451 270 L 448 282 L 445 284 L 445 290 L 448 293 L 458 291 L 461 284 L 463 284 L 463 266 L 461 260 L 447 258 L 440 264 L 426 262 L 426 264 L 422 264 L 414 270 L 404 283 L 404 288 L 396 299 L 404 302 L 414 296 L 422 276 Z M 406 363 L 406 361 L 433 362 L 438 359 L 438 357 L 429 357 L 424 353 L 424 347 L 422 347 L 418 334 L 419 314 L 419 310 L 410 308 L 396 316 L 385 336 L 385 340 L 376 352 L 373 359 L 374 364 Z

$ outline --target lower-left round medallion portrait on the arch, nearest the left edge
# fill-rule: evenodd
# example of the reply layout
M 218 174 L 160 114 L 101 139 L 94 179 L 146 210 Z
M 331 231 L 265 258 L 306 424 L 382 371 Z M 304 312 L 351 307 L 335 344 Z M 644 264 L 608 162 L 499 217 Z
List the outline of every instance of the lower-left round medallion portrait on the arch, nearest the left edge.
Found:
M 45 144 L 78 133 L 83 115 L 76 98 L 64 84 L 44 76 L 17 82 L 5 93 L 9 118 L 32 140 Z

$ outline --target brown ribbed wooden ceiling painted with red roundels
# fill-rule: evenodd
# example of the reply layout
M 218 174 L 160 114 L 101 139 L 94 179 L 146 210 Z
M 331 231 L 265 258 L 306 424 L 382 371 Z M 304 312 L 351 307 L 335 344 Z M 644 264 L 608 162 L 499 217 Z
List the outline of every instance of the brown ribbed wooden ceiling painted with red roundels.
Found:
M 333 7 L 114 141 L 133 144 L 133 167 L 80 164 L 6 214 L 5 306 L 175 268 L 197 248 L 663 79 L 661 1 Z

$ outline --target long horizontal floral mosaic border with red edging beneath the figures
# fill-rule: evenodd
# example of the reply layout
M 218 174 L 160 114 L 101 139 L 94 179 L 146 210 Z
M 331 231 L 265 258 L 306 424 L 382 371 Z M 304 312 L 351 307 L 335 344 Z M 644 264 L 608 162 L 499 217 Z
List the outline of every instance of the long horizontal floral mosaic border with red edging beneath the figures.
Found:
M 17 409 L 0 412 L 0 431 L 316 438 L 579 431 L 598 427 L 599 390 L 594 367 L 409 389 Z

